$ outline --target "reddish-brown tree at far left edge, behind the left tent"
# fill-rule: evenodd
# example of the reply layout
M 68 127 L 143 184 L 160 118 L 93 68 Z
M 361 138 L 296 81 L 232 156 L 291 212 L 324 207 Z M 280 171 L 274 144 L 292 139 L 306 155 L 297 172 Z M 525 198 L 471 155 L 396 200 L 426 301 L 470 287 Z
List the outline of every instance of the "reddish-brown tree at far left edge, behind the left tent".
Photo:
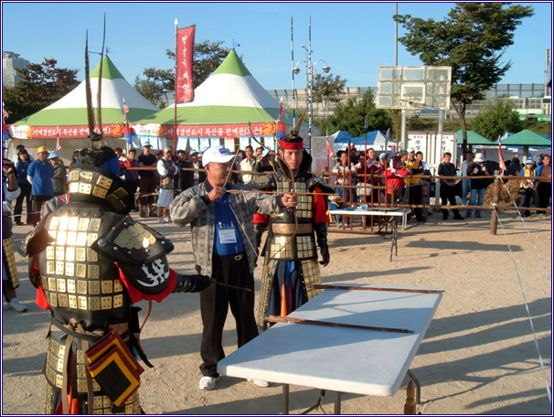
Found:
M 56 59 L 44 59 L 41 64 L 28 64 L 16 69 L 21 77 L 14 87 L 5 87 L 3 101 L 9 117 L 6 123 L 16 123 L 59 101 L 79 85 L 78 69 L 56 68 Z

